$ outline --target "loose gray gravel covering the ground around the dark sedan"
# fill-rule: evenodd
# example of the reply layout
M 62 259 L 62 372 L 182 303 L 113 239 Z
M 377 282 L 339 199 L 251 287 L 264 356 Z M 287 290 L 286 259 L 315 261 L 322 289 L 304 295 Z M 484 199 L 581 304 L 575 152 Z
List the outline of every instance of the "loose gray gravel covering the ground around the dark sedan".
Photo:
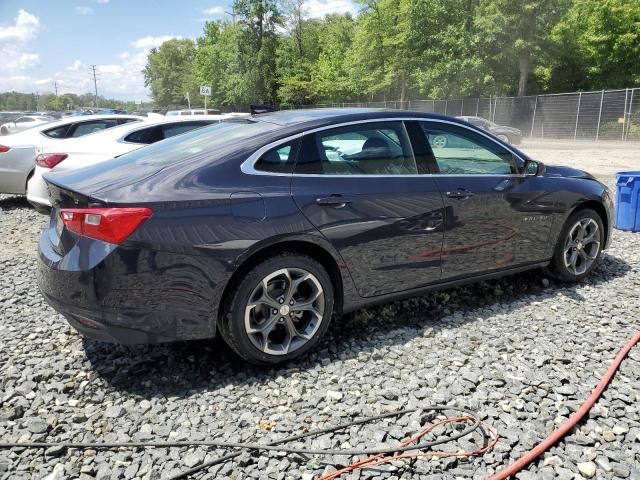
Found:
M 83 339 L 41 299 L 34 265 L 45 220 L 23 199 L 0 197 L 2 441 L 267 440 L 450 402 L 479 410 L 498 430 L 491 453 L 344 478 L 480 479 L 568 418 L 640 325 L 640 236 L 615 232 L 584 284 L 531 272 L 362 310 L 335 322 L 314 354 L 278 369 L 248 367 L 217 340 L 113 346 Z M 517 478 L 640 480 L 639 387 L 635 348 L 588 420 Z M 392 445 L 419 420 L 353 427 L 311 445 Z M 214 456 L 203 448 L 15 449 L 0 451 L 0 479 L 156 479 Z M 243 454 L 201 478 L 309 480 L 348 460 Z

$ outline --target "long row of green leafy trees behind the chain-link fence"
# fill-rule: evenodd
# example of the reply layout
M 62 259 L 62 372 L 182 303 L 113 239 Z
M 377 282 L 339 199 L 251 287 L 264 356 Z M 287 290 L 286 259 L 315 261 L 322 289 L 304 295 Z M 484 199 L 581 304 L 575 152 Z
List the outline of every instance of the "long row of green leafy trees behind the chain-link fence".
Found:
M 146 82 L 160 105 L 210 85 L 232 108 L 640 86 L 638 0 L 358 1 L 318 19 L 235 0 L 234 23 L 152 50 Z

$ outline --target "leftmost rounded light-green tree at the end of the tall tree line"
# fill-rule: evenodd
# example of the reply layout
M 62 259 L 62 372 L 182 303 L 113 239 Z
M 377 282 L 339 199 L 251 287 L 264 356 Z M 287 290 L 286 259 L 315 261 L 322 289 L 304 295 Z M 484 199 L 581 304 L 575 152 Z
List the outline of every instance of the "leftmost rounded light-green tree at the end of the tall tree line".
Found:
M 143 74 L 158 105 L 184 105 L 187 95 L 198 98 L 193 72 L 195 53 L 194 42 L 187 38 L 167 40 L 151 49 Z

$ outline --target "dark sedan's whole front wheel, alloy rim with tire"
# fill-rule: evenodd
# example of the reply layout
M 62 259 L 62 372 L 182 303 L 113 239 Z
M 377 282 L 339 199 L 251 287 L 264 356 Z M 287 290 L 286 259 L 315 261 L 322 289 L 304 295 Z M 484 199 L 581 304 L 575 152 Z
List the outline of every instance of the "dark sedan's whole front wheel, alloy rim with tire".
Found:
M 582 280 L 600 260 L 603 243 L 600 216 L 591 209 L 577 211 L 560 234 L 553 259 L 554 273 L 561 280 Z

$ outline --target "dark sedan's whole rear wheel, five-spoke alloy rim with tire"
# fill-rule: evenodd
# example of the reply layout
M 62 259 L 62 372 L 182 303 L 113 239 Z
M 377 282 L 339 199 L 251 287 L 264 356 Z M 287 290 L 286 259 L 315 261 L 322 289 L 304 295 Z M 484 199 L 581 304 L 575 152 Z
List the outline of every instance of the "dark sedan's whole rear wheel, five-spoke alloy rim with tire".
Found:
M 255 364 L 275 364 L 311 349 L 333 311 L 324 268 L 302 255 L 259 264 L 240 283 L 220 329 L 229 346 Z

